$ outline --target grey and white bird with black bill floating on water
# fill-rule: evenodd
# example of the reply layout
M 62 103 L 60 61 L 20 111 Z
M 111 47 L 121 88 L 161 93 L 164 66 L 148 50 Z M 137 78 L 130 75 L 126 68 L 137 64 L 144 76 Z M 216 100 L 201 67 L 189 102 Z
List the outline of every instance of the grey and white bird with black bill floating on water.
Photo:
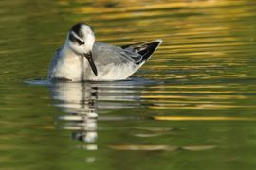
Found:
M 49 67 L 50 81 L 125 80 L 151 58 L 161 39 L 115 46 L 95 41 L 91 26 L 77 23 L 67 33 L 64 45 Z

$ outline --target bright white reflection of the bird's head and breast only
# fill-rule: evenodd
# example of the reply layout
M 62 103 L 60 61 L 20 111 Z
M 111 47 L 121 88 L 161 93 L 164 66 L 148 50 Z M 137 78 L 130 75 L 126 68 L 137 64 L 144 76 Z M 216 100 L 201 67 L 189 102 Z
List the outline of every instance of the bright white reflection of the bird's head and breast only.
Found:
M 72 137 L 86 143 L 95 143 L 97 139 L 97 87 L 82 83 L 54 83 L 51 87 L 52 96 L 60 101 L 67 115 L 60 116 L 64 129 L 73 130 Z

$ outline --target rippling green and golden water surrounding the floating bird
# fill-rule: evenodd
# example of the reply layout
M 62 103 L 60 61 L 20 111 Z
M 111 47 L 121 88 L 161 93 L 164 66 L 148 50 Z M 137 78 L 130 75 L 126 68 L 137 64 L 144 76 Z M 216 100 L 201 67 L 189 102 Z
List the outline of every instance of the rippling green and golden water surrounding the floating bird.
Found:
M 0 7 L 0 169 L 255 169 L 255 1 Z M 80 21 L 100 42 L 164 42 L 130 80 L 47 83 Z

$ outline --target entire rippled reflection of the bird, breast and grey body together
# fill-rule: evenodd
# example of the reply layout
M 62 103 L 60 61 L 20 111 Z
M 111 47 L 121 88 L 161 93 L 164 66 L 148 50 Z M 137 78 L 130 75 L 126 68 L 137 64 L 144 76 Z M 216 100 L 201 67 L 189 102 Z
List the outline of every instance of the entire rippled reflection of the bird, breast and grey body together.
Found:
M 140 93 L 135 88 L 143 85 L 133 84 L 133 81 L 74 83 L 54 82 L 50 86 L 55 106 L 65 113 L 59 116 L 58 125 L 72 130 L 72 138 L 89 143 L 97 140 L 98 113 L 102 121 L 123 119 L 121 116 L 107 116 L 106 109 L 124 109 L 138 107 Z M 124 102 L 125 101 L 125 102 Z M 95 147 L 94 147 L 95 148 Z

